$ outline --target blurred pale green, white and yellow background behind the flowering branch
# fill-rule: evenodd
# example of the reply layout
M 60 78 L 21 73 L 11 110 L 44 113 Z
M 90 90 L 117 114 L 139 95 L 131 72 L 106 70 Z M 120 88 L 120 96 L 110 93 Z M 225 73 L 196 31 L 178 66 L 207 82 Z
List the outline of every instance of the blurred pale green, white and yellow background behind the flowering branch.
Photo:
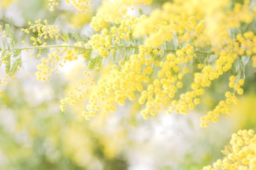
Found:
M 154 6 L 163 3 L 154 1 Z M 100 1 L 93 1 L 85 13 L 77 13 L 72 6 L 60 4 L 50 12 L 45 0 L 0 0 L 0 24 L 10 24 L 24 39 L 20 29 L 36 19 L 82 34 L 92 30 L 88 22 L 99 5 Z M 256 128 L 256 73 L 252 66 L 247 68 L 241 103 L 218 123 L 200 128 L 200 116 L 214 108 L 228 89 L 227 76 L 207 89 L 202 106 L 188 116 L 161 112 L 145 121 L 136 112 L 138 105 L 127 104 L 108 118 L 86 121 L 81 116 L 83 103 L 66 112 L 59 108 L 65 91 L 77 84 L 83 73 L 81 61 L 72 61 L 51 81 L 39 82 L 35 70 L 40 60 L 26 52 L 22 59 L 17 80 L 0 95 L 0 169 L 201 169 L 222 157 L 220 150 L 231 134 Z

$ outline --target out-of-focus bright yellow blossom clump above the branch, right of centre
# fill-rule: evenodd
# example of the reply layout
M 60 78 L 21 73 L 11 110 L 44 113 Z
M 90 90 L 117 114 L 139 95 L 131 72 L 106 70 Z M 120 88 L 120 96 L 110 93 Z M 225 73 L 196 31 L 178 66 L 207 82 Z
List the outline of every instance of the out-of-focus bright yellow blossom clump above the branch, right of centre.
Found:
M 163 10 L 152 12 L 150 17 L 141 15 L 134 26 L 132 35 L 136 38 L 148 35 L 145 45 L 148 47 L 159 47 L 164 42 L 171 41 L 173 34 L 178 36 L 179 43 L 188 42 L 195 39 L 204 29 L 204 20 L 197 22 L 194 16 L 179 19 L 179 22 L 173 19 L 169 11 L 168 4 L 163 6 Z

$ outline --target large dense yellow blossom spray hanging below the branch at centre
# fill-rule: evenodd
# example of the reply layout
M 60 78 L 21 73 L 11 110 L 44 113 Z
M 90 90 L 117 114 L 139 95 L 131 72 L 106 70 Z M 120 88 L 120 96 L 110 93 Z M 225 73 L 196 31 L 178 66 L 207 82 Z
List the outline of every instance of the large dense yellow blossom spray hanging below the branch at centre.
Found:
M 139 54 L 133 54 L 127 61 L 120 62 L 120 67 L 113 65 L 108 74 L 104 75 L 92 89 L 89 103 L 83 115 L 89 119 L 98 109 L 108 113 L 116 110 L 116 104 L 124 105 L 126 100 L 135 100 L 135 92 L 143 90 L 143 82 L 148 82 L 153 71 L 153 63 L 158 50 L 140 46 Z M 154 56 L 150 56 L 150 52 Z

